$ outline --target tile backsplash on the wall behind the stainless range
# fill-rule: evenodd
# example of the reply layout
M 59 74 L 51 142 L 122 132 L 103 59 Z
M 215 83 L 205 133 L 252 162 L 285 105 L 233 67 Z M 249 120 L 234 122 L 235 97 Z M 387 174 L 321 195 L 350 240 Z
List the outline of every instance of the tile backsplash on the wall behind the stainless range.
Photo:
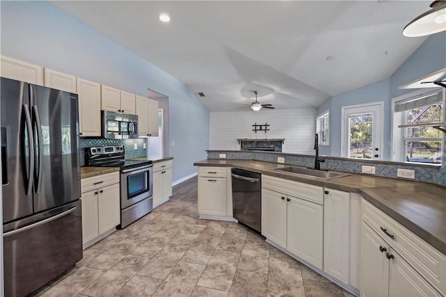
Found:
M 102 147 L 107 145 L 124 145 L 125 159 L 146 156 L 147 150 L 143 148 L 147 138 L 132 139 L 105 139 L 105 138 L 79 138 L 81 166 L 85 166 L 85 147 Z M 134 144 L 138 149 L 134 150 Z

